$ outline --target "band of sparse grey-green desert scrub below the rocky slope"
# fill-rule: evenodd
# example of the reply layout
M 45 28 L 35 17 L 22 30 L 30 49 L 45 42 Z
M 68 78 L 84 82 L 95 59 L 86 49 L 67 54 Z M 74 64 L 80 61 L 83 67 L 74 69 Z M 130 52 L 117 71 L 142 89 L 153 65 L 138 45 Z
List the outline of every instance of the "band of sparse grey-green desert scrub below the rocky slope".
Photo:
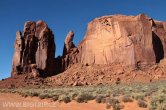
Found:
M 0 92 L 17 93 L 23 97 L 39 97 L 64 103 L 72 100 L 79 103 L 95 100 L 97 103 L 106 103 L 106 108 L 114 110 L 122 109 L 124 107 L 122 102 L 130 103 L 136 100 L 139 107 L 166 110 L 166 81 L 112 86 L 11 88 L 0 89 Z

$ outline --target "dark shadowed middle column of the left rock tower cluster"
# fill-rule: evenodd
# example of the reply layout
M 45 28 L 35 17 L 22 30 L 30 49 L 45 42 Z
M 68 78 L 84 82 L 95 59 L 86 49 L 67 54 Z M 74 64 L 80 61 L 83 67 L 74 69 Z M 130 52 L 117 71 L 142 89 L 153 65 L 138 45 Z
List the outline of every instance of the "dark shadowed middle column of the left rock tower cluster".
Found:
M 35 22 L 28 21 L 25 23 L 22 67 L 26 72 L 29 72 L 28 66 L 30 64 L 35 64 L 35 53 L 37 49 L 37 38 L 35 37 L 35 30 Z

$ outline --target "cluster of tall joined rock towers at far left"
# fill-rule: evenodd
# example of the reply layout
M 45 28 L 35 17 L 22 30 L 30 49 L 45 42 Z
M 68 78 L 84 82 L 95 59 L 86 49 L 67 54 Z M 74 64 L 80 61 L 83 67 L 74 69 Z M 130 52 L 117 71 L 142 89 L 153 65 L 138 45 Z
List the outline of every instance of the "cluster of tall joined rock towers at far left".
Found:
M 15 52 L 12 61 L 12 76 L 30 73 L 33 66 L 41 75 L 50 75 L 54 69 L 54 35 L 43 21 L 28 21 L 24 25 L 23 35 L 16 33 Z

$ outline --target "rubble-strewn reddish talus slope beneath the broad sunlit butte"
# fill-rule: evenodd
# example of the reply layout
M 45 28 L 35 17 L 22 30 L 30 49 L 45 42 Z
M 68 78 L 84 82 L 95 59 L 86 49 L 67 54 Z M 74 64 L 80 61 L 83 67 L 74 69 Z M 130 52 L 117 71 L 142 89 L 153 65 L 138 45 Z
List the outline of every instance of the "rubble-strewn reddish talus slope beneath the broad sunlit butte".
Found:
M 162 60 L 161 62 L 159 65 L 152 65 L 144 69 L 132 69 L 119 64 L 89 66 L 74 64 L 65 72 L 48 77 L 46 80 L 52 86 L 149 83 L 166 79 L 166 62 Z

